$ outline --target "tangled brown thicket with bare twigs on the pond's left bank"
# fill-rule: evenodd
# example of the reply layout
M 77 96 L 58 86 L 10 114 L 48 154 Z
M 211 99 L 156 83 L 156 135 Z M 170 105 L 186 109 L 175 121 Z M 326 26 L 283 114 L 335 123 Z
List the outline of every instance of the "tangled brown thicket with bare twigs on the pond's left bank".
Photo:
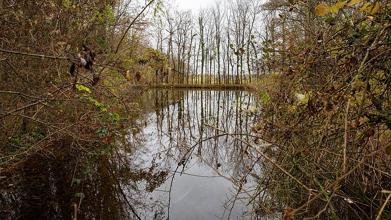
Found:
M 65 137 L 110 142 L 131 113 L 127 86 L 166 69 L 143 40 L 160 4 L 0 1 L 0 166 Z

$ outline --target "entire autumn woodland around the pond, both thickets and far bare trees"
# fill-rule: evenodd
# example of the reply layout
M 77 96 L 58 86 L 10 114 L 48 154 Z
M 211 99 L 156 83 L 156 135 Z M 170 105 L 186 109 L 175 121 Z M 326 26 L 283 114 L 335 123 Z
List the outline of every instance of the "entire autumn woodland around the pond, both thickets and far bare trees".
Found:
M 131 85 L 252 83 L 253 131 L 273 143 L 254 215 L 387 218 L 390 20 L 387 0 L 0 0 L 0 166 L 110 145 Z

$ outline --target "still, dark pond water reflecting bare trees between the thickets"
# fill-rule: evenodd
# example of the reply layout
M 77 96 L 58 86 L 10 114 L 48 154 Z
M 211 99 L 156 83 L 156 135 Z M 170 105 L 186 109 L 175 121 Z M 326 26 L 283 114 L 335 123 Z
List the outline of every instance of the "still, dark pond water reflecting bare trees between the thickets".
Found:
M 142 112 L 116 144 L 80 154 L 63 143 L 2 173 L 0 219 L 72 219 L 73 203 L 78 219 L 249 219 L 237 185 L 252 185 L 257 156 L 211 126 L 254 141 L 242 135 L 253 95 L 151 90 L 134 102 Z

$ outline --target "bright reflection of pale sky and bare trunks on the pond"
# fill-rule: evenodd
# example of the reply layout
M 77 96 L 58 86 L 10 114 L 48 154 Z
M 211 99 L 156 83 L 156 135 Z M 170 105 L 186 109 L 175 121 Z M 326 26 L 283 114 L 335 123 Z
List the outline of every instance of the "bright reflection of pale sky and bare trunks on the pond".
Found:
M 138 149 L 129 156 L 143 155 L 138 161 L 140 164 L 148 167 L 157 163 L 172 171 L 163 186 L 152 194 L 153 198 L 166 204 L 166 217 L 227 219 L 240 217 L 247 211 L 240 201 L 233 206 L 237 188 L 218 177 L 216 171 L 237 182 L 247 181 L 240 179 L 248 174 L 255 156 L 242 142 L 221 135 L 205 123 L 232 133 L 249 133 L 253 123 L 250 113 L 255 109 L 252 94 L 244 91 L 157 90 L 145 93 L 139 103 L 144 109 L 143 117 L 137 121 L 139 127 L 132 128 L 126 136 L 124 146 Z M 244 139 L 250 141 L 247 136 Z M 194 145 L 197 146 L 192 148 Z M 178 164 L 180 174 L 176 174 L 171 186 L 173 171 Z M 169 202 L 170 212 L 167 211 Z

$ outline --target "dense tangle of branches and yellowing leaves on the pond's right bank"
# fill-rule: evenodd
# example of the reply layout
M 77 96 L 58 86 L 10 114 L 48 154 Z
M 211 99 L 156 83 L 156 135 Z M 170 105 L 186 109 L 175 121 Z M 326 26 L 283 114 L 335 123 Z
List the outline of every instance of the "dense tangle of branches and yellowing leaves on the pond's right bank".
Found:
M 282 169 L 265 163 L 258 195 L 268 208 L 259 209 L 285 211 L 286 219 L 388 218 L 388 1 L 262 8 L 271 41 L 262 62 L 272 72 L 260 86 L 265 111 L 255 130 L 275 143 L 268 153 Z

